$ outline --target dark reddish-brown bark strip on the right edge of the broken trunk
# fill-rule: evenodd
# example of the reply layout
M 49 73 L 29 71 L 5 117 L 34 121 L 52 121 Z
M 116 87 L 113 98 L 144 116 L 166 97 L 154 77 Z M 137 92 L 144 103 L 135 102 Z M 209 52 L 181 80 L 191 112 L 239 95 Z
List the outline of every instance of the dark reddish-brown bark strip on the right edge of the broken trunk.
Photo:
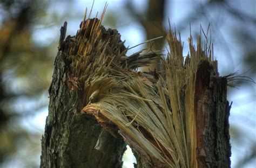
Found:
M 227 80 L 207 61 L 198 67 L 195 93 L 198 167 L 230 167 L 231 146 Z

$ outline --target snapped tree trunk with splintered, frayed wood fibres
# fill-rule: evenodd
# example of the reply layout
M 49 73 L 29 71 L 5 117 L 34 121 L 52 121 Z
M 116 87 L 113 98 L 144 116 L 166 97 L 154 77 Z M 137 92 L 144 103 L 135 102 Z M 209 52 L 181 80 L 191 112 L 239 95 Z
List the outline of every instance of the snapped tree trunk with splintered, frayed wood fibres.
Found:
M 170 30 L 161 71 L 137 72 L 159 52 L 127 57 L 102 18 L 84 18 L 73 37 L 65 38 L 66 24 L 61 29 L 41 167 L 121 167 L 124 141 L 136 167 L 230 167 L 227 80 L 211 44 L 202 50 L 199 37 L 196 49 L 190 38 L 184 61 Z

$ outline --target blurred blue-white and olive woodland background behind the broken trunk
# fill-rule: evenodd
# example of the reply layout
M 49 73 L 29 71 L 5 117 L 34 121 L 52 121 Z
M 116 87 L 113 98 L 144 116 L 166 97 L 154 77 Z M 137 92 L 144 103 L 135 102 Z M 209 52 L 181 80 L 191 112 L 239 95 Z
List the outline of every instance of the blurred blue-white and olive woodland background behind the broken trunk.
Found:
M 236 71 L 242 74 L 250 69 L 243 75 L 255 79 L 254 0 L 116 0 L 107 3 L 103 24 L 117 29 L 126 46 L 164 35 L 169 27 L 168 18 L 185 42 L 190 24 L 192 34 L 199 34 L 199 25 L 207 30 L 210 23 L 220 75 Z M 48 88 L 59 28 L 66 20 L 67 34 L 75 34 L 85 8 L 90 9 L 91 5 L 92 1 L 74 0 L 0 1 L 0 167 L 39 166 L 40 139 L 48 115 Z M 93 16 L 101 12 L 104 5 L 105 2 L 96 1 Z M 138 48 L 143 47 L 150 46 Z M 165 50 L 165 40 L 155 41 L 154 49 Z M 186 55 L 185 45 L 184 51 Z M 228 88 L 228 100 L 233 101 L 232 167 L 253 167 L 256 165 L 255 85 L 244 80 L 235 82 L 240 85 L 239 89 Z

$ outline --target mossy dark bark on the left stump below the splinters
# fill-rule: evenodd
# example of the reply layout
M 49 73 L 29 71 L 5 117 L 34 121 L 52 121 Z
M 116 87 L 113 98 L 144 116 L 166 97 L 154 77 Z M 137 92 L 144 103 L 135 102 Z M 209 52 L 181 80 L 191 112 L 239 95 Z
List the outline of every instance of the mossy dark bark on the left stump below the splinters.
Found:
M 62 27 L 60 41 L 65 38 L 65 29 Z M 82 104 L 79 104 L 79 90 L 70 92 L 64 82 L 65 57 L 59 51 L 55 60 L 41 167 L 122 167 L 126 148 L 123 139 L 102 131 L 94 118 L 75 114 Z

